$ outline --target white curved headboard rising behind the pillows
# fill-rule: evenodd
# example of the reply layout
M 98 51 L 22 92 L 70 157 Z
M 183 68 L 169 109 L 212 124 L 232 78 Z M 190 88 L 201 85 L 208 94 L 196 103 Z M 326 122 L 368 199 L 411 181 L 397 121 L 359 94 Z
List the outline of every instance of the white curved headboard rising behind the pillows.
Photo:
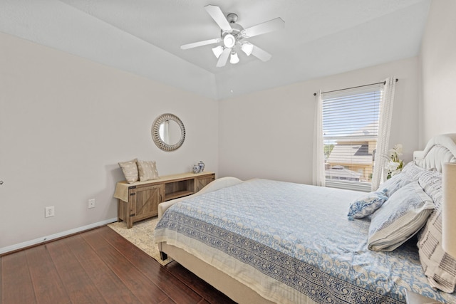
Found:
M 432 137 L 423 151 L 413 152 L 413 159 L 418 166 L 442 172 L 445 162 L 456 162 L 456 134 L 444 134 Z

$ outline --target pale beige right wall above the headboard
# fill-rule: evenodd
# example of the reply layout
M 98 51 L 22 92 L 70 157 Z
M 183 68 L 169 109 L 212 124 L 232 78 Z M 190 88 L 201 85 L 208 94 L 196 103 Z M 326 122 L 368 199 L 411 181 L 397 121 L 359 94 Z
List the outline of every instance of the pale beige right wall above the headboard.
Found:
M 456 132 L 456 1 L 434 0 L 420 53 L 420 146 Z

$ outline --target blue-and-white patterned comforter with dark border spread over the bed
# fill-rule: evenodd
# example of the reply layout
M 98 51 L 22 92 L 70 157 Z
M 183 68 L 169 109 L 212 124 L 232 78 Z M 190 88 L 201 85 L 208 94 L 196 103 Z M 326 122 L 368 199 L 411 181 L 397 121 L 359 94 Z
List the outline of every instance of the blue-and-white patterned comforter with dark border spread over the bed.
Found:
M 455 303 L 455 294 L 427 284 L 415 242 L 392 252 L 368 250 L 369 221 L 348 221 L 346 216 L 360 195 L 253 179 L 174 204 L 157 224 L 155 241 L 202 243 L 246 264 L 244 273 L 262 273 L 316 303 L 405 303 L 407 289 Z M 234 266 L 224 271 L 232 268 L 229 275 L 244 278 Z M 261 294 L 274 283 L 263 291 L 250 285 Z M 277 300 L 273 293 L 265 298 Z M 290 297 L 277 301 L 296 302 L 295 295 Z

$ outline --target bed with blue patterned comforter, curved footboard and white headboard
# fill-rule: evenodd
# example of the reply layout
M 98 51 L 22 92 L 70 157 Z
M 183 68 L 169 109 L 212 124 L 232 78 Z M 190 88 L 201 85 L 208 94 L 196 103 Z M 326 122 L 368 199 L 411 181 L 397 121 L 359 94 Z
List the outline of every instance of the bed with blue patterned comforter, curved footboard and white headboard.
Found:
M 440 277 L 430 273 L 435 267 L 425 261 L 430 254 L 423 241 L 432 234 L 430 221 L 439 218 L 441 187 L 435 187 L 435 177 L 442 162 L 456 162 L 455 140 L 456 135 L 432 138 L 398 174 L 398 180 L 412 180 L 404 189 L 421 181 L 432 208 L 429 202 L 420 206 L 425 220 L 419 233 L 391 251 L 369 246 L 375 243 L 371 223 L 393 204 L 386 202 L 394 194 L 371 216 L 348 220 L 353 201 L 366 193 L 234 177 L 160 204 L 155 241 L 164 258 L 175 259 L 237 303 L 405 303 L 407 290 L 456 303 L 452 290 L 435 288 Z M 456 264 L 450 263 L 450 276 L 452 271 Z

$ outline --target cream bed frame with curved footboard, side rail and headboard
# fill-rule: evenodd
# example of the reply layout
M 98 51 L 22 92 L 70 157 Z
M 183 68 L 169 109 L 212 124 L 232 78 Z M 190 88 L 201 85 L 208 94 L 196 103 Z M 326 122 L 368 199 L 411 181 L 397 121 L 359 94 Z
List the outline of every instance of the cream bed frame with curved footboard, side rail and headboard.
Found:
M 442 142 L 443 141 L 443 142 Z M 437 171 L 441 172 L 442 162 L 448 162 L 447 159 L 440 159 L 440 154 L 438 149 L 433 149 L 434 146 L 443 145 L 445 147 L 451 147 L 449 150 L 456 155 L 455 150 L 456 134 L 452 135 L 439 135 L 434 137 L 427 143 L 425 150 L 414 152 L 413 157 L 415 163 L 420 167 L 425 167 L 427 169 L 435 168 Z M 437 147 L 438 148 L 438 147 Z M 431 151 L 432 150 L 432 151 Z M 214 182 L 208 184 L 197 194 L 192 194 L 191 196 L 197 196 L 206 192 L 212 192 L 217 189 L 222 189 L 224 187 L 234 186 L 235 184 L 242 183 L 243 181 L 235 177 L 223 177 L 221 179 L 216 179 Z M 165 201 L 158 206 L 158 218 L 162 217 L 162 214 L 168 209 L 172 204 L 177 203 L 187 199 L 188 197 L 174 199 L 172 201 Z M 158 244 L 160 252 L 164 254 L 163 258 L 166 258 L 169 255 L 171 258 L 175 259 L 182 266 L 188 270 L 195 273 L 199 278 L 202 278 L 204 281 L 210 285 L 220 290 L 222 293 L 227 295 L 229 298 L 234 300 L 237 303 L 272 303 L 265 298 L 262 298 L 259 293 L 247 287 L 246 285 L 240 283 L 235 278 L 228 276 L 226 273 L 219 271 L 214 266 L 211 266 L 208 263 L 201 261 L 199 258 L 196 258 L 190 253 L 177 248 L 176 246 L 168 245 L 166 242 Z M 313 300 L 307 299 L 306 303 L 309 304 L 318 304 Z

